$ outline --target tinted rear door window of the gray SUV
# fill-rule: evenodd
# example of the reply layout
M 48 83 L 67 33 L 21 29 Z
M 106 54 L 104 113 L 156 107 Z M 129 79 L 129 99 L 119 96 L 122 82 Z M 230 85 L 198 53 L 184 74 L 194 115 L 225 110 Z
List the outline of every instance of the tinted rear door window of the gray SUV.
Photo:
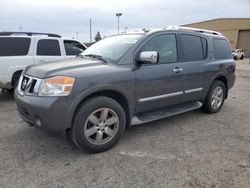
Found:
M 181 35 L 183 61 L 201 61 L 204 59 L 201 38 L 193 35 Z

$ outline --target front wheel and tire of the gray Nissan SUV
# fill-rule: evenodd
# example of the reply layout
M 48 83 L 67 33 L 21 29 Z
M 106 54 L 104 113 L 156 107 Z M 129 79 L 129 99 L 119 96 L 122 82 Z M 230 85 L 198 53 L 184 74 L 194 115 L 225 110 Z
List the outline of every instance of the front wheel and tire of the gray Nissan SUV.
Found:
M 99 96 L 88 99 L 76 112 L 71 129 L 74 143 L 90 153 L 112 148 L 126 127 L 126 115 L 115 100 Z

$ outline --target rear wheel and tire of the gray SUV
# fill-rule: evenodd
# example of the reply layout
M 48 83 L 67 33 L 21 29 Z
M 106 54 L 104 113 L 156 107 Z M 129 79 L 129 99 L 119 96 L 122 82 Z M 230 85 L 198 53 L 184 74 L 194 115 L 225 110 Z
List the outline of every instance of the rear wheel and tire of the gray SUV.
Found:
M 208 91 L 205 103 L 201 108 L 202 111 L 209 114 L 219 112 L 224 104 L 226 91 L 225 84 L 220 80 L 215 80 Z

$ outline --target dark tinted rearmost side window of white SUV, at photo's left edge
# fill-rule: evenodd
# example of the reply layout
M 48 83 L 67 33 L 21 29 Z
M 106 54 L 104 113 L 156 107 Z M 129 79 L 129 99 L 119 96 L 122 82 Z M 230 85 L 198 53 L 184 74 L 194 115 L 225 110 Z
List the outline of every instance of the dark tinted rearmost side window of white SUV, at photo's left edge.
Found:
M 30 38 L 0 38 L 0 56 L 27 55 L 30 48 Z

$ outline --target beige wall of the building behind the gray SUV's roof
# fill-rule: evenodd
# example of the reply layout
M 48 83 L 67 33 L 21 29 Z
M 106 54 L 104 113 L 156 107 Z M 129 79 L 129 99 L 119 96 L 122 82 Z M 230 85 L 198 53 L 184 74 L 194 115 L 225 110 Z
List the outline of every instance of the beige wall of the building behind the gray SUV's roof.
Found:
M 237 48 L 239 31 L 249 30 L 250 32 L 250 18 L 220 18 L 182 26 L 221 32 L 228 38 L 231 47 Z M 248 51 L 250 51 L 250 49 L 248 49 Z

